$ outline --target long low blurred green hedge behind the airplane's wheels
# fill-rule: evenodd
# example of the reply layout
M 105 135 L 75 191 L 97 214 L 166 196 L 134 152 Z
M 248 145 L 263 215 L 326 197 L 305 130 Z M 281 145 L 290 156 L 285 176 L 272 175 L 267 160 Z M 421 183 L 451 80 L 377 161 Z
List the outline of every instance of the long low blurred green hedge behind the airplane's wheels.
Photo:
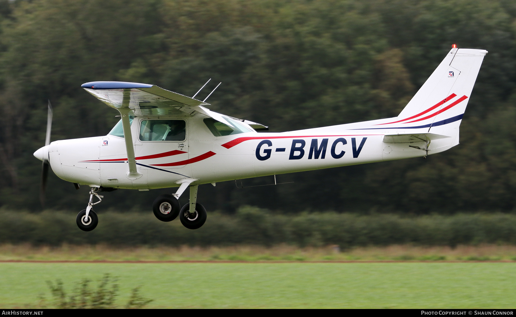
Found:
M 341 248 L 412 243 L 449 245 L 516 244 L 516 215 L 457 214 L 402 217 L 304 213 L 281 215 L 254 207 L 241 207 L 236 215 L 208 214 L 198 230 L 179 221 L 161 222 L 151 213 L 101 213 L 99 226 L 83 232 L 75 214 L 0 212 L 0 243 L 35 245 L 234 245 L 298 246 L 338 244 Z

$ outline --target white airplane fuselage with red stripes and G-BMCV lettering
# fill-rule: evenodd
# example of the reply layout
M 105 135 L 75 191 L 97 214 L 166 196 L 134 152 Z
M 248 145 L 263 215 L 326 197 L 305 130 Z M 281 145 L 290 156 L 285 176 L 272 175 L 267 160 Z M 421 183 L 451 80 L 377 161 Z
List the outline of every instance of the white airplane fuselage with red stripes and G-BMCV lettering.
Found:
M 195 184 L 246 179 L 355 164 L 424 156 L 418 143 L 388 144 L 388 131 L 357 130 L 353 124 L 281 133 L 249 132 L 215 136 L 196 114 L 167 119 L 185 120 L 181 140 L 141 140 L 142 121 L 134 118 L 131 131 L 138 172 L 130 180 L 122 136 L 58 140 L 45 147 L 54 173 L 84 185 L 126 189 L 176 187 L 178 180 L 196 178 Z M 157 118 L 163 119 L 163 118 Z M 382 119 L 384 121 L 389 119 Z M 375 121 L 362 122 L 371 126 Z M 449 144 L 449 140 L 446 144 Z M 425 142 L 422 142 L 424 147 Z M 439 142 L 432 152 L 440 152 Z M 448 147 L 446 147 L 448 148 Z

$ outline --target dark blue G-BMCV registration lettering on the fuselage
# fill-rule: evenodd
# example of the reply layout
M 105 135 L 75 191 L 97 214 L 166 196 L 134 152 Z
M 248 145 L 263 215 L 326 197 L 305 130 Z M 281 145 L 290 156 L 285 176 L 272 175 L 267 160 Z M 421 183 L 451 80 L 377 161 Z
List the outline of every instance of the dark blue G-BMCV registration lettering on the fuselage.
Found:
M 308 160 L 312 159 L 325 159 L 326 158 L 326 150 L 328 148 L 328 140 L 329 138 L 324 138 L 320 141 L 314 138 L 312 139 L 312 142 L 310 143 L 310 149 L 308 150 Z M 353 153 L 353 158 L 357 158 L 360 155 L 360 152 L 362 151 L 362 148 L 364 147 L 365 141 L 367 140 L 367 137 L 363 137 L 360 144 L 357 147 L 357 138 L 352 137 L 351 138 L 351 149 Z M 330 154 L 333 159 L 340 159 L 344 154 L 346 154 L 346 151 L 343 149 L 337 149 L 337 146 L 344 146 L 348 144 L 347 140 L 343 137 L 339 137 L 335 139 L 330 148 Z M 288 155 L 288 160 L 301 160 L 305 154 L 305 146 L 307 145 L 307 142 L 303 139 L 293 139 L 292 145 L 290 149 L 290 154 Z M 256 146 L 256 159 L 260 161 L 265 161 L 270 159 L 270 156 L 272 155 L 272 142 L 271 140 L 262 140 L 257 146 Z M 275 152 L 285 152 L 286 148 L 276 148 Z

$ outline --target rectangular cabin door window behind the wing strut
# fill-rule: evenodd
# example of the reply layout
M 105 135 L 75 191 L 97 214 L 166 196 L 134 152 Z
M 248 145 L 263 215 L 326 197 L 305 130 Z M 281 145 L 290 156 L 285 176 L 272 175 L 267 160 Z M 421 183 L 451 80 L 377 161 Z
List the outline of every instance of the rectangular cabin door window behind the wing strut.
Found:
M 183 141 L 185 139 L 185 120 L 141 121 L 140 141 Z

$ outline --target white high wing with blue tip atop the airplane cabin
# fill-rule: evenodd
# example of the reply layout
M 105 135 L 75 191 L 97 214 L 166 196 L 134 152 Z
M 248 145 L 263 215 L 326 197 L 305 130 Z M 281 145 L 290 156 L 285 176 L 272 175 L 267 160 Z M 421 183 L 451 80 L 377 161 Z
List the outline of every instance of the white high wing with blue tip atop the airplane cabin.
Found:
M 156 85 L 123 81 L 92 81 L 82 84 L 81 87 L 109 107 L 130 109 L 129 114 L 137 117 L 192 116 L 202 113 L 228 124 L 223 115 L 203 107 L 209 103 L 165 90 Z M 267 129 L 267 127 L 252 121 L 241 121 L 256 130 Z

